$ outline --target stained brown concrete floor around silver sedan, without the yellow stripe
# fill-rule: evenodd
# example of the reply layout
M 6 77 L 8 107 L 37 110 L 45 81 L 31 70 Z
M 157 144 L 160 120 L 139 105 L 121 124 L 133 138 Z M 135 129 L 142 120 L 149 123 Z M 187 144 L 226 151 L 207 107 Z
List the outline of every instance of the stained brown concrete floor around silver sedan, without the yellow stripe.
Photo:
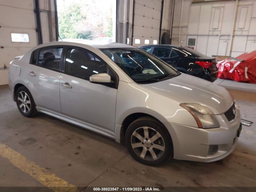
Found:
M 238 146 L 218 162 L 171 160 L 158 167 L 132 159 L 114 140 L 39 114 L 25 118 L 0 86 L 0 143 L 74 186 L 254 186 L 256 187 L 256 94 L 230 91 L 243 126 Z M 0 156 L 0 186 L 43 186 Z

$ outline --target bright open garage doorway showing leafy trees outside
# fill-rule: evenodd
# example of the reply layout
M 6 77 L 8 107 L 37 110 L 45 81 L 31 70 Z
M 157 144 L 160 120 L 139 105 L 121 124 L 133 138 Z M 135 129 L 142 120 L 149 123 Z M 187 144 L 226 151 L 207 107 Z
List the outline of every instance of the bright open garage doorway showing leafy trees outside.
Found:
M 58 0 L 60 38 L 112 37 L 113 0 Z

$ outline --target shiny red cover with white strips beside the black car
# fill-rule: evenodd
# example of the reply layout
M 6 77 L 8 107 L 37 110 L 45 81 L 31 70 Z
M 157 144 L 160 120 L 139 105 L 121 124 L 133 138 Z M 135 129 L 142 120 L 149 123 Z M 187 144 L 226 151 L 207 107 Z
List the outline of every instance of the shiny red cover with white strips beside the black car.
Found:
M 256 51 L 217 63 L 218 78 L 256 83 Z

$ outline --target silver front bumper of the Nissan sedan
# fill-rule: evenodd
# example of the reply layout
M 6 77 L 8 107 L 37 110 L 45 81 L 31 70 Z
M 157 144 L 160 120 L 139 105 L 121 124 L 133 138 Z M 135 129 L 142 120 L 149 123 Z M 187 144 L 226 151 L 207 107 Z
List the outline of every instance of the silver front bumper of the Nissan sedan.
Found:
M 220 127 L 202 129 L 175 123 L 164 123 L 172 137 L 174 159 L 212 162 L 228 156 L 238 142 L 240 112 L 230 124 L 224 114 L 216 115 Z

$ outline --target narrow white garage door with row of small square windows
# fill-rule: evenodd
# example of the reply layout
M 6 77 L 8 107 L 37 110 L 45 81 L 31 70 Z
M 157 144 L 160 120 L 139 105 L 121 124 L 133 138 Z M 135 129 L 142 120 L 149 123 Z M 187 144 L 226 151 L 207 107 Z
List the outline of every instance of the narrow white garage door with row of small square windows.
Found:
M 135 0 L 134 4 L 134 46 L 158 44 L 162 0 Z

